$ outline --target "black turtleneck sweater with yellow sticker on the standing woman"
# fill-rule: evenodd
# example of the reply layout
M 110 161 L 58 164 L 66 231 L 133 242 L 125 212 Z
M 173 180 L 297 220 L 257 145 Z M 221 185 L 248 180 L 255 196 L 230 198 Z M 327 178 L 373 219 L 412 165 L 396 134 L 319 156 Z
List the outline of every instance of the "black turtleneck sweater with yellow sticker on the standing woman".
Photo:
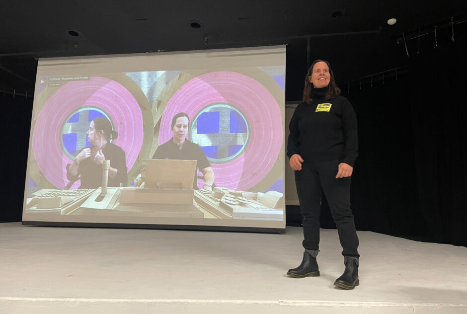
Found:
M 304 162 L 340 160 L 353 166 L 358 155 L 355 111 L 343 96 L 326 99 L 328 90 L 313 88 L 312 102 L 295 108 L 287 156 L 299 154 Z

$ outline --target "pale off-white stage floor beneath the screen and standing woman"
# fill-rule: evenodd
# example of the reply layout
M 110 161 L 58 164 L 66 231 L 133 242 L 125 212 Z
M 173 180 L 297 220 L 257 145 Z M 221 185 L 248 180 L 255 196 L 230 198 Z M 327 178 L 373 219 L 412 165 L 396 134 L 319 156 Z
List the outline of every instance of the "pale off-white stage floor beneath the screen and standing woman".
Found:
M 285 235 L 0 224 L 1 314 L 467 313 L 467 248 L 372 232 L 360 286 L 335 230 L 321 230 L 320 277 L 286 276 L 302 229 Z

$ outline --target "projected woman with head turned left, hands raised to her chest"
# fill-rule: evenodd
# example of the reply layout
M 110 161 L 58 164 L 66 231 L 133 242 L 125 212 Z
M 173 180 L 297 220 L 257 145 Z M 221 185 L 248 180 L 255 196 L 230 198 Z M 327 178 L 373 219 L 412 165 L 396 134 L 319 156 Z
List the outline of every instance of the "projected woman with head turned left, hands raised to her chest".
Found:
M 112 130 L 110 121 L 104 117 L 95 118 L 86 134 L 91 146 L 81 149 L 73 163 L 67 165 L 67 178 L 71 182 L 80 179 L 79 189 L 97 188 L 102 184 L 102 161 L 110 160 L 108 186 L 125 186 L 125 152 L 110 143 L 110 140 L 115 140 L 118 136 Z

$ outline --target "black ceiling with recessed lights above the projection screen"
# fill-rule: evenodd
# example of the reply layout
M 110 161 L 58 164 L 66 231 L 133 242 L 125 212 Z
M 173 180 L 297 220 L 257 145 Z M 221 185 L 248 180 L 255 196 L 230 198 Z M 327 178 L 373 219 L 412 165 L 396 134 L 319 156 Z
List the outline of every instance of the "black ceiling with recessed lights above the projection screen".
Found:
M 292 100 L 301 98 L 307 46 L 308 58 L 330 61 L 344 83 L 405 65 L 404 43 L 397 44 L 403 33 L 410 39 L 427 32 L 423 40 L 432 46 L 435 26 L 440 40 L 453 28 L 465 36 L 467 27 L 466 0 L 2 2 L 0 91 L 29 94 L 37 58 L 287 44 Z

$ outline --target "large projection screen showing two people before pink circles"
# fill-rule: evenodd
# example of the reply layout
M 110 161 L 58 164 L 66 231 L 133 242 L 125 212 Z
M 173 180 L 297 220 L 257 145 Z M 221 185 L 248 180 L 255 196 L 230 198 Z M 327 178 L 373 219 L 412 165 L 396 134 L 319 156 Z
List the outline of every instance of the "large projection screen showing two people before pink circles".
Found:
M 285 230 L 285 60 L 40 59 L 23 224 Z

